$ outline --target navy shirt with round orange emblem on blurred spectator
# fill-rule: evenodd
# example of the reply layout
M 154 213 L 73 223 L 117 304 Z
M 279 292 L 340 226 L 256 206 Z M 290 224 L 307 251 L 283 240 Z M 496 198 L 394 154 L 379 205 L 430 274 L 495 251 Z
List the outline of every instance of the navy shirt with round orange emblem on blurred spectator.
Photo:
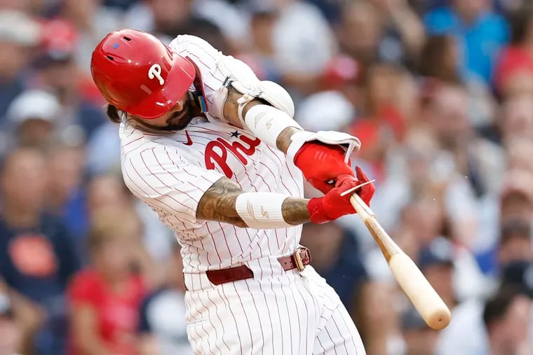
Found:
M 34 339 L 39 355 L 65 352 L 65 288 L 79 269 L 77 255 L 59 218 L 42 216 L 36 227 L 19 230 L 0 218 L 0 279 L 46 312 L 45 324 Z

